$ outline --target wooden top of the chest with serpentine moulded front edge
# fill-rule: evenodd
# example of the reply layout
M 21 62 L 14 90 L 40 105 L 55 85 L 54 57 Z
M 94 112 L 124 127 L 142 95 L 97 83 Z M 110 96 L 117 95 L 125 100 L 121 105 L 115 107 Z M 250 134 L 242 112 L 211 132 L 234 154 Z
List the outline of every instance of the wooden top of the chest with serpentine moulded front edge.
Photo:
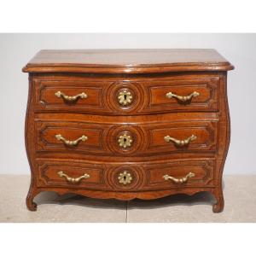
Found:
M 214 49 L 44 49 L 23 72 L 162 73 L 233 68 Z

